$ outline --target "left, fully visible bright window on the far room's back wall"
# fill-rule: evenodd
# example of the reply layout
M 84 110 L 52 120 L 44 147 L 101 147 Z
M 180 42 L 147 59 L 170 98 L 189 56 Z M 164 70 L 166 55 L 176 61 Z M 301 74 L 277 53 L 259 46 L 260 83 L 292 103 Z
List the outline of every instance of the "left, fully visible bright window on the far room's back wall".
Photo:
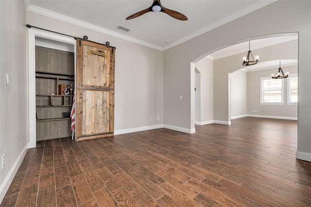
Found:
M 260 78 L 260 104 L 284 104 L 283 79 Z

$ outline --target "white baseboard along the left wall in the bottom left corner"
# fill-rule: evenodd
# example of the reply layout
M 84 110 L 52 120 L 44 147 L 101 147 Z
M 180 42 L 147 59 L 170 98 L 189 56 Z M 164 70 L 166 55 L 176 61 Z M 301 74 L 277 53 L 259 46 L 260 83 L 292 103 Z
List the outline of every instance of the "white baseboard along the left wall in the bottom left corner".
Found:
M 27 150 L 28 150 L 29 146 L 28 143 L 25 145 L 25 147 L 22 149 L 22 151 L 20 152 L 20 154 L 18 155 L 17 159 L 15 160 L 12 168 L 10 169 L 9 173 L 7 173 L 7 175 L 5 176 L 3 182 L 1 183 L 0 186 L 0 203 L 2 202 L 6 191 L 9 189 L 13 178 L 15 176 L 15 174 L 17 173 L 17 170 L 21 164 L 21 162 L 23 161 Z

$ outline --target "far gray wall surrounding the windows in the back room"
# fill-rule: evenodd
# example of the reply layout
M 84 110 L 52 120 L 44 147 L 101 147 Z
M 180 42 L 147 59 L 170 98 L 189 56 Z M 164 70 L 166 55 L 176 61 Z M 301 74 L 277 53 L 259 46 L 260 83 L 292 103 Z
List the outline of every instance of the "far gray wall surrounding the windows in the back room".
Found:
M 297 66 L 282 67 L 284 72 L 289 71 L 290 74 L 298 72 Z M 276 117 L 287 117 L 297 118 L 297 105 L 288 105 L 287 103 L 287 79 L 284 79 L 284 105 L 266 105 L 260 103 L 260 78 L 269 77 L 271 74 L 276 73 L 277 68 L 259 70 L 247 73 L 247 113 L 250 115 L 261 115 L 261 116 L 276 116 Z M 300 89 L 300 88 L 299 88 Z M 252 112 L 252 110 L 257 112 Z

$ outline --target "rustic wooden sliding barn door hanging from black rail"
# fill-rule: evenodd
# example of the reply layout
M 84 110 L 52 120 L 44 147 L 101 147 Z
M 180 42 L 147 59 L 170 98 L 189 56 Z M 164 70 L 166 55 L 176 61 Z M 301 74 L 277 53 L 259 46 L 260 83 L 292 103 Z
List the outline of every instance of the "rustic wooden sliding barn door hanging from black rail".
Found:
M 114 48 L 77 39 L 77 141 L 113 136 L 114 63 Z

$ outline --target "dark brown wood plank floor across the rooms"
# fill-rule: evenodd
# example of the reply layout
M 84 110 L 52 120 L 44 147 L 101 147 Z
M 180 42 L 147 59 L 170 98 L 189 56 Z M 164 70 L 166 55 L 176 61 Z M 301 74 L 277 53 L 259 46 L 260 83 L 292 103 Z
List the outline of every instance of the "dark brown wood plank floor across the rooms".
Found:
M 29 149 L 1 207 L 311 206 L 297 121 L 242 118 Z

